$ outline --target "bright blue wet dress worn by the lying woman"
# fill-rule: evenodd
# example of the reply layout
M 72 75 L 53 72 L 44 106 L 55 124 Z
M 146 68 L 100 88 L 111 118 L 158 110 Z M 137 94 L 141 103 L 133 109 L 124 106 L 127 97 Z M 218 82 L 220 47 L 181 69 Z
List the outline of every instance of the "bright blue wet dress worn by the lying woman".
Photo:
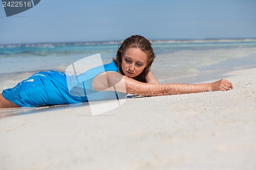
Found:
M 126 93 L 93 89 L 93 79 L 104 71 L 118 72 L 118 67 L 112 61 L 109 64 L 104 64 L 103 67 L 101 65 L 89 69 L 78 76 L 69 76 L 63 72 L 52 70 L 37 72 L 15 87 L 5 89 L 3 97 L 20 107 L 74 104 L 123 98 Z

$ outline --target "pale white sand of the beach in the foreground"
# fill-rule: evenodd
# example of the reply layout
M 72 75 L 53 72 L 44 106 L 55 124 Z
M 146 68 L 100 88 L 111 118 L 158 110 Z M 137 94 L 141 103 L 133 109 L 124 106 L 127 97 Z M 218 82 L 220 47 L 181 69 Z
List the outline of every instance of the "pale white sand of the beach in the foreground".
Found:
M 97 116 L 88 104 L 1 109 L 0 169 L 255 169 L 255 72 L 223 75 L 233 90 L 129 99 Z

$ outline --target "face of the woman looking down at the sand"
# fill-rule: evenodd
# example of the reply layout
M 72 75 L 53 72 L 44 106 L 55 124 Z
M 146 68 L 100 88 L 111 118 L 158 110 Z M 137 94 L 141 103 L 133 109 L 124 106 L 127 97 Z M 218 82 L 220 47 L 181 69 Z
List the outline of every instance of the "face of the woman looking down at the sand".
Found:
M 122 70 L 127 77 L 138 76 L 147 64 L 147 55 L 139 48 L 128 48 L 122 55 Z

